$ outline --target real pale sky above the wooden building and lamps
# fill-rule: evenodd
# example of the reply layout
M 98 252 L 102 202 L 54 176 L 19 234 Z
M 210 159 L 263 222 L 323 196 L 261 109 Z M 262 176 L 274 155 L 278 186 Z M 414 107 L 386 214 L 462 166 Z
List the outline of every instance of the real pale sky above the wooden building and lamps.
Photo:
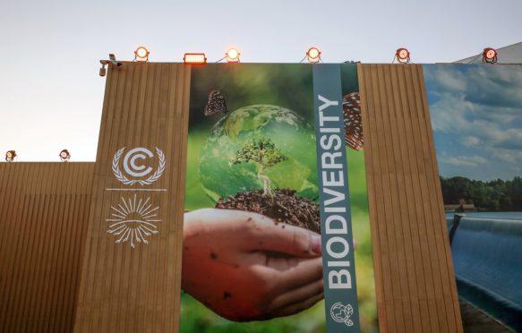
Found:
M 234 46 L 242 62 L 296 63 L 317 46 L 326 63 L 390 63 L 407 47 L 415 63 L 451 62 L 521 41 L 519 13 L 520 0 L 2 1 L 0 154 L 95 160 L 109 53 L 211 62 Z

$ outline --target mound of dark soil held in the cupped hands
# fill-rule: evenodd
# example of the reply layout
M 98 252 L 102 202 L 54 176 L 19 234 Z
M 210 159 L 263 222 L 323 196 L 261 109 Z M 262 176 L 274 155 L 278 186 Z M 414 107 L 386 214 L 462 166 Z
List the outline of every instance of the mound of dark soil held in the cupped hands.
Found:
M 286 223 L 321 233 L 317 203 L 297 198 L 293 190 L 276 190 L 275 193 L 273 198 L 264 197 L 261 190 L 237 193 L 219 200 L 216 208 L 252 211 L 272 218 L 277 224 Z

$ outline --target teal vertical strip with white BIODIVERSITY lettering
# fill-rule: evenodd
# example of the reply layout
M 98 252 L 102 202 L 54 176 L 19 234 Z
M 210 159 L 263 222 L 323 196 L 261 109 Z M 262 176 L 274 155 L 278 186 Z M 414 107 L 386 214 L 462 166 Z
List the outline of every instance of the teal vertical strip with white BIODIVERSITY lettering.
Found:
M 313 64 L 322 270 L 329 333 L 359 332 L 339 64 Z

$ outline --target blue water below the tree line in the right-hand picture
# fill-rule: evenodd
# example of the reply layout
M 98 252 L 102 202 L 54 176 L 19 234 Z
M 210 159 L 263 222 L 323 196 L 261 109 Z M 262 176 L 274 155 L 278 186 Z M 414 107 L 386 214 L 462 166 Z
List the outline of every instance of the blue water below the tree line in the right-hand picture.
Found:
M 465 214 L 451 243 L 458 295 L 522 332 L 522 212 Z

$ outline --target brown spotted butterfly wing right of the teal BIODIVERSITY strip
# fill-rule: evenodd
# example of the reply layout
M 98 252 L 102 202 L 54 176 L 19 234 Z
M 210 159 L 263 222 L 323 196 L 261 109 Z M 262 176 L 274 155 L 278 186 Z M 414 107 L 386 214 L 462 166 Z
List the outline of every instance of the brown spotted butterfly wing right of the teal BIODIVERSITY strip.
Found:
M 343 97 L 345 115 L 345 143 L 352 149 L 364 148 L 363 122 L 361 117 L 361 98 L 358 92 Z

